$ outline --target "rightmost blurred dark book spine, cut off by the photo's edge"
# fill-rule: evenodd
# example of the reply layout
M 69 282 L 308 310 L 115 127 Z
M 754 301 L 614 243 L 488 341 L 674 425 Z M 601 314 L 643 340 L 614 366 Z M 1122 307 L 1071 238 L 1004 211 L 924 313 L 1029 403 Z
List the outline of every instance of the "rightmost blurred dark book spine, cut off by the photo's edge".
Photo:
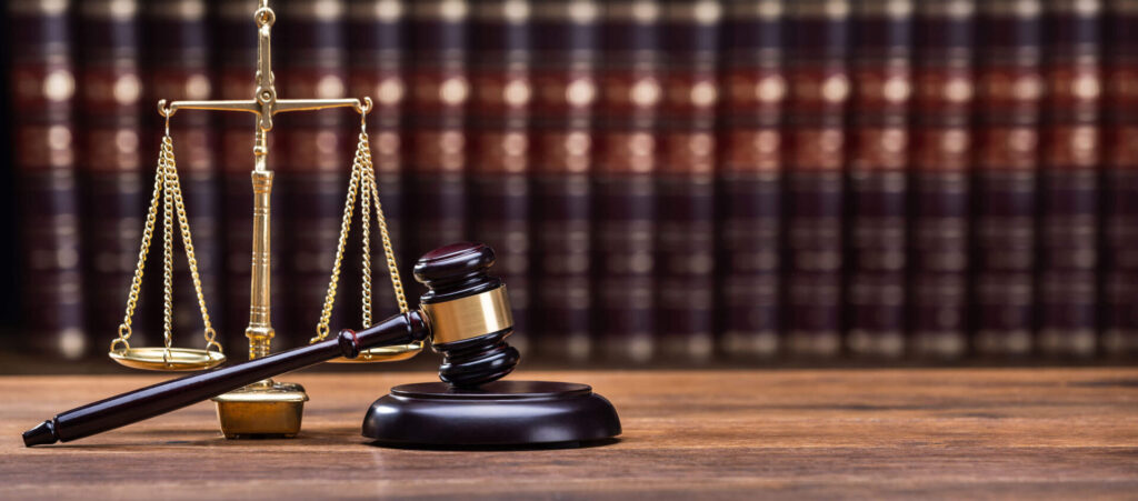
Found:
M 1104 16 L 1103 352 L 1138 354 L 1138 0 Z

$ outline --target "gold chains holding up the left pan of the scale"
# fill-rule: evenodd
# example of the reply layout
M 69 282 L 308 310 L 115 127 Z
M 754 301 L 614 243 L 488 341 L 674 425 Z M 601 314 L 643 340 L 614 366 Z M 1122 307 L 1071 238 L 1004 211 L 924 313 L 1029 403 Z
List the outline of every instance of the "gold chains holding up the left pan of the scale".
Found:
M 189 219 L 185 211 L 185 200 L 182 198 L 182 187 L 178 176 L 178 163 L 174 158 L 174 140 L 170 137 L 167 126 L 166 134 L 162 139 L 162 150 L 158 154 L 158 167 L 154 179 L 154 195 L 150 197 L 150 208 L 147 212 L 146 225 L 142 231 L 142 244 L 139 249 L 139 262 L 134 269 L 134 279 L 131 281 L 131 291 L 126 299 L 126 313 L 123 315 L 123 323 L 118 326 L 118 337 L 110 343 L 110 351 L 115 346 L 123 345 L 124 350 L 130 350 L 127 339 L 131 337 L 131 322 L 138 298 L 142 288 L 142 277 L 146 270 L 146 256 L 150 253 L 150 244 L 154 239 L 154 230 L 158 219 L 159 197 L 163 205 L 163 345 L 164 359 L 168 362 L 173 336 L 171 335 L 173 325 L 173 223 L 174 215 L 178 217 L 178 227 L 182 235 L 182 245 L 185 247 L 185 257 L 189 262 L 190 276 L 193 278 L 193 290 L 197 293 L 198 307 L 201 311 L 201 322 L 204 323 L 203 336 L 206 340 L 206 350 L 222 352 L 217 343 L 217 332 L 209 321 L 209 313 L 206 309 L 205 295 L 201 293 L 201 274 L 198 272 L 198 260 L 193 252 L 193 238 L 190 233 Z

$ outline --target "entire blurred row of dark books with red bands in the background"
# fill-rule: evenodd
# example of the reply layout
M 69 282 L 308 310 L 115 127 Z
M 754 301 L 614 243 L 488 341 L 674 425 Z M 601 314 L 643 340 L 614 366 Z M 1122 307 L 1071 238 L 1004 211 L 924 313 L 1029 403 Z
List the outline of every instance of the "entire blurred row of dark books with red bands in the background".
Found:
M 163 129 L 152 102 L 249 99 L 256 5 L 8 2 L 35 350 L 77 358 L 114 337 Z M 432 247 L 489 244 L 529 352 L 1138 351 L 1138 0 L 272 7 L 282 97 L 376 101 L 403 276 Z M 239 352 L 253 121 L 185 112 L 170 126 L 205 295 Z M 358 132 L 351 112 L 277 120 L 275 346 L 314 334 Z M 179 262 L 175 330 L 200 344 Z M 157 266 L 137 329 L 150 342 Z M 344 274 L 333 325 L 358 327 L 358 264 Z

